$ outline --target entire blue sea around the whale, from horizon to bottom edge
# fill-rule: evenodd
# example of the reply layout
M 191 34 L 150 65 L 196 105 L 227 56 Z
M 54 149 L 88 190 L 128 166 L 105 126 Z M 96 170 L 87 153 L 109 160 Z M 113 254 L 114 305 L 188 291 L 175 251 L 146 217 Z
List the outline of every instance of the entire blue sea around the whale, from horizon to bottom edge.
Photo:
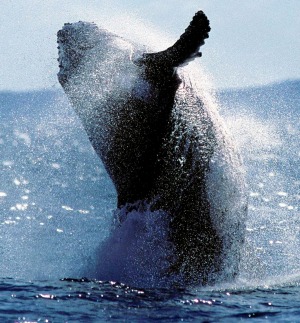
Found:
M 216 99 L 249 186 L 241 272 L 158 289 L 91 275 L 116 193 L 63 93 L 0 93 L 0 322 L 300 322 L 300 81 Z

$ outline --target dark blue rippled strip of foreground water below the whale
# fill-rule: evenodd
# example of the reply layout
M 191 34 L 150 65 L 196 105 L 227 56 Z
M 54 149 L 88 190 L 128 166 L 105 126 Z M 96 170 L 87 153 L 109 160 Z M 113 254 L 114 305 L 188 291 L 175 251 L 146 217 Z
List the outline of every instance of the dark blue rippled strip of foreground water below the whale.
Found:
M 1 322 L 299 322 L 299 283 L 139 289 L 89 280 L 1 281 Z

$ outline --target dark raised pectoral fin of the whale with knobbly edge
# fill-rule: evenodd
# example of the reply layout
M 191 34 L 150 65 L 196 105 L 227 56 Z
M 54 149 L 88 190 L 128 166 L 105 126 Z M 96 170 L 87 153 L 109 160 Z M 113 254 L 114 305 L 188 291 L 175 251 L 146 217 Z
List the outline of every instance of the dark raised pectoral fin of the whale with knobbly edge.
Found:
M 145 53 L 141 63 L 176 68 L 187 64 L 196 57 L 201 57 L 200 47 L 208 38 L 209 20 L 203 11 L 198 11 L 190 25 L 177 42 L 168 49 L 158 53 Z

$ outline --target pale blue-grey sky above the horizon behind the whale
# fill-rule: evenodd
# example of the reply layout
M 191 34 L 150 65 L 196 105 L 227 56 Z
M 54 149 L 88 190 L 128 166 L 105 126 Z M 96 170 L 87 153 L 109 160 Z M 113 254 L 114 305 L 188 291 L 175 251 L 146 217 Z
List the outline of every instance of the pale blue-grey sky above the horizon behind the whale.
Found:
M 94 21 L 162 50 L 203 10 L 199 59 L 216 88 L 300 79 L 300 0 L 0 0 L 0 90 L 59 88 L 56 33 Z

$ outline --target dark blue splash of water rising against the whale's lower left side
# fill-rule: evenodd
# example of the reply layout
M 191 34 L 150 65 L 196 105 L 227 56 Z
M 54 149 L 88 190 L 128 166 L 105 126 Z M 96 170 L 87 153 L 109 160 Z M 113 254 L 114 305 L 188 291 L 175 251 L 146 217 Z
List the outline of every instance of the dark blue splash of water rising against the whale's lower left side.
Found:
M 147 287 L 166 287 L 178 281 L 176 275 L 161 277 L 162 272 L 168 271 L 168 260 L 175 252 L 168 241 L 168 215 L 163 211 L 153 212 L 149 206 L 144 211 L 128 213 L 122 208 L 116 213 L 116 219 L 124 220 L 100 246 L 98 263 L 92 269 L 96 269 L 94 277 Z

